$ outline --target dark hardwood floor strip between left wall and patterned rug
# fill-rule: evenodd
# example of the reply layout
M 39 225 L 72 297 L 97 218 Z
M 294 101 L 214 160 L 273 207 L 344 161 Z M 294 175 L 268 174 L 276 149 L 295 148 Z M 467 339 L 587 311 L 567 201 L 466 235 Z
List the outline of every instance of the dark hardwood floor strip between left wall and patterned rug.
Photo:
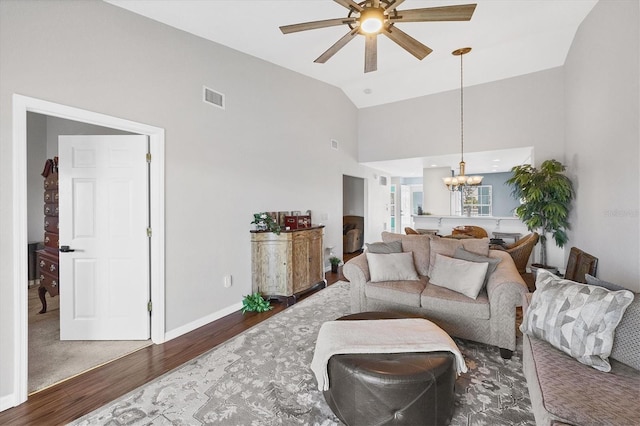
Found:
M 344 280 L 326 273 L 329 285 Z M 311 293 L 302 295 L 304 299 Z M 24 404 L 0 412 L 0 425 L 63 425 L 184 364 L 233 336 L 286 309 L 274 302 L 269 312 L 240 311 L 161 345 L 151 345 L 64 382 L 43 389 Z

